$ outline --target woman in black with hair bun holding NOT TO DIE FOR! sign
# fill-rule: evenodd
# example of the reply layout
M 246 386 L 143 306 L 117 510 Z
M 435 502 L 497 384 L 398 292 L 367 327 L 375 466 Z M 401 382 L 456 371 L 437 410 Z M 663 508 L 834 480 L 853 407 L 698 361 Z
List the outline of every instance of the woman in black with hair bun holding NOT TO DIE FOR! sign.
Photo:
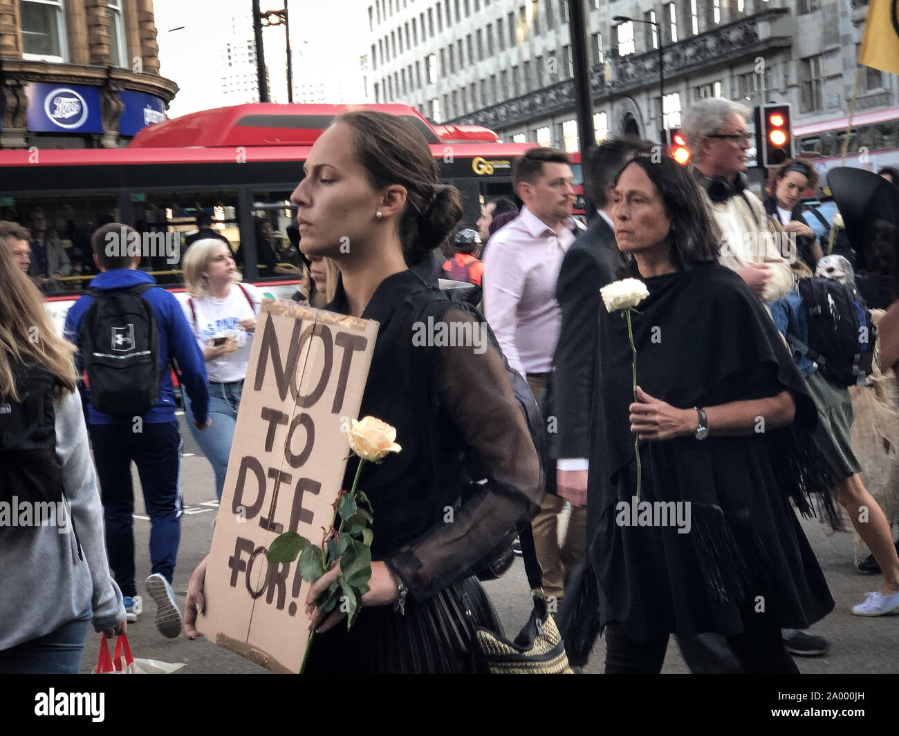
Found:
M 338 118 L 305 171 L 291 200 L 304 253 L 340 268 L 330 308 L 380 325 L 360 416 L 396 427 L 403 447 L 367 464 L 360 479 L 374 510 L 366 609 L 348 632 L 338 625 L 343 613 L 323 620 L 313 606 L 336 570 L 313 584 L 307 605 L 319 634 L 305 671 L 467 671 L 476 626 L 499 626 L 474 572 L 539 509 L 542 477 L 492 343 L 413 339 L 414 324 L 429 318 L 481 332 L 408 270 L 458 221 L 458 191 L 439 182 L 423 136 L 379 112 Z M 351 484 L 344 479 L 344 488 Z M 188 590 L 190 636 L 196 607 L 205 605 L 204 576 L 201 564 Z

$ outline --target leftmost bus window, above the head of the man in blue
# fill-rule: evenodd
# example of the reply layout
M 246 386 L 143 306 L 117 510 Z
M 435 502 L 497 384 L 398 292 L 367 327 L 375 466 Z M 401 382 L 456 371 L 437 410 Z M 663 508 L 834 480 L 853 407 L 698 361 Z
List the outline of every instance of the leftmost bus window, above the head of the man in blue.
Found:
M 28 272 L 48 296 L 85 288 L 97 272 L 91 235 L 119 217 L 114 194 L 7 197 L 2 205 L 0 219 L 17 222 L 31 233 Z

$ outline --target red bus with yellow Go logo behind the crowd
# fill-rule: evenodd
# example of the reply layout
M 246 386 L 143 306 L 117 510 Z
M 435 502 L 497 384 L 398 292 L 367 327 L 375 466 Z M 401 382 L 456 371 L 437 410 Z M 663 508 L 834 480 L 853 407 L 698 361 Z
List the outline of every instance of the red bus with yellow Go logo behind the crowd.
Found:
M 126 148 L 0 151 L 0 217 L 28 226 L 40 209 L 65 246 L 72 274 L 47 297 L 58 324 L 93 276 L 91 233 L 110 221 L 135 227 L 151 243 L 182 243 L 205 213 L 235 253 L 240 249 L 245 280 L 289 295 L 298 279 L 257 262 L 257 231 L 268 221 L 281 264 L 297 264 L 286 234 L 295 217 L 290 192 L 316 138 L 335 116 L 360 108 L 397 115 L 422 132 L 441 179 L 461 193 L 463 226 L 475 226 L 485 200 L 512 196 L 512 161 L 534 146 L 501 143 L 476 126 L 433 126 L 405 105 L 236 105 L 156 123 Z M 175 293 L 183 290 L 178 251 L 140 265 Z

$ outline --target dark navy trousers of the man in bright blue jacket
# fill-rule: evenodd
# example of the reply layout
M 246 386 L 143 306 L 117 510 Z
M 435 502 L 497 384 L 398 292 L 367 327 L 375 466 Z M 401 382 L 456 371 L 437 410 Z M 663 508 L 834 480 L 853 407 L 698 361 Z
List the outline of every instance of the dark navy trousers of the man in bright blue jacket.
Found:
M 100 478 L 106 550 L 121 594 L 134 598 L 134 488 L 131 461 L 138 466 L 144 506 L 150 518 L 150 562 L 172 582 L 181 542 L 181 432 L 177 421 L 143 425 L 92 424 L 93 462 Z

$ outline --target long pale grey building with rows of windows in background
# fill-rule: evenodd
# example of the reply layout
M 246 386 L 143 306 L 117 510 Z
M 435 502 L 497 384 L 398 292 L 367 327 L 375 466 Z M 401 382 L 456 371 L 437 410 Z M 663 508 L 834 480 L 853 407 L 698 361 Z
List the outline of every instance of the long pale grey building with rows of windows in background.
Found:
M 724 96 L 790 102 L 797 148 L 809 154 L 841 145 L 835 131 L 846 125 L 867 0 L 583 2 L 597 138 L 657 140 L 691 102 Z M 504 140 L 579 148 L 565 0 L 376 0 L 366 20 L 373 102 L 485 125 Z M 865 136 L 878 149 L 899 147 L 896 104 L 896 76 L 862 68 L 854 109 L 880 131 L 866 127 L 850 148 Z

